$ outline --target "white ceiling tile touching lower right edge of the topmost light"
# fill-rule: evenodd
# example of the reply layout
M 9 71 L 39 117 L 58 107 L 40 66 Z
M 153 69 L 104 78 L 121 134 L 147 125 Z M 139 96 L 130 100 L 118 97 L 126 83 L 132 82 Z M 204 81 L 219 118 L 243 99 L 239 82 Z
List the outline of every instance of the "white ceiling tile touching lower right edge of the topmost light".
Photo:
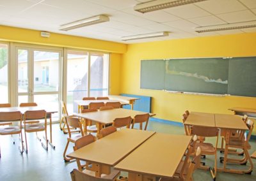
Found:
M 181 18 L 196 18 L 211 15 L 207 11 L 202 10 L 202 8 L 198 8 L 198 6 L 195 6 L 194 4 L 186 4 L 184 6 L 167 8 L 164 11 Z

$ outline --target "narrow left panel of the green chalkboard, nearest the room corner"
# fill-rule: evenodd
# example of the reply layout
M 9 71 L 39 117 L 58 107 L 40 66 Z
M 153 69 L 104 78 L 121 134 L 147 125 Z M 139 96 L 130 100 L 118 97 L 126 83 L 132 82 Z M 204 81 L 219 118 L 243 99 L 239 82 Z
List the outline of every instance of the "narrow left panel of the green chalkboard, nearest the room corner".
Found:
M 165 61 L 141 61 L 140 88 L 163 90 L 165 85 Z

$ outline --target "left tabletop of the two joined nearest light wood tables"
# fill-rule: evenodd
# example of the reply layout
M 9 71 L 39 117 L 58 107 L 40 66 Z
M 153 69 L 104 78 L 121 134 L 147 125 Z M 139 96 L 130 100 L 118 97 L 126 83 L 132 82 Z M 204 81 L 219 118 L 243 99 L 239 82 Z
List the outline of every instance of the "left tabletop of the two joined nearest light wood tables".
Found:
M 68 154 L 68 157 L 114 166 L 155 133 L 138 129 L 121 129 Z

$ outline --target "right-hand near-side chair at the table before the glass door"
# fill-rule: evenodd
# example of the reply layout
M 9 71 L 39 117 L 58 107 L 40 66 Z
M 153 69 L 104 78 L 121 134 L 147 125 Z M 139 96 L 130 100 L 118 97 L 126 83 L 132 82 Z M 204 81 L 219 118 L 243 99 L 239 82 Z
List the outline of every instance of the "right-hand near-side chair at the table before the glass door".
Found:
M 38 119 L 42 119 L 42 120 L 44 120 L 44 122 L 42 124 L 35 123 L 35 122 L 39 122 Z M 47 115 L 46 115 L 45 110 L 26 111 L 24 113 L 24 132 L 25 132 L 26 153 L 27 154 L 28 154 L 28 141 L 27 141 L 26 133 L 33 133 L 33 132 L 39 132 L 39 131 L 45 131 L 45 144 L 42 142 L 42 147 L 44 147 L 46 150 L 48 150 Z M 38 138 L 37 134 L 36 134 L 36 137 Z M 38 140 L 41 141 L 40 138 L 38 138 Z

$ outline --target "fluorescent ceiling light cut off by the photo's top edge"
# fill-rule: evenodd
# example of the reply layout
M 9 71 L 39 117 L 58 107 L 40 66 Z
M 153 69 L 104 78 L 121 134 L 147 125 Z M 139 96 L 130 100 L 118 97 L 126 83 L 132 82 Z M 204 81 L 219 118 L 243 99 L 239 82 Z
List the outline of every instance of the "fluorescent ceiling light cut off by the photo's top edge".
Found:
M 185 4 L 197 3 L 206 0 L 155 0 L 147 3 L 141 3 L 134 6 L 134 11 L 140 13 L 147 13 L 150 11 L 163 10 L 165 8 L 172 8 L 175 6 L 182 6 Z

